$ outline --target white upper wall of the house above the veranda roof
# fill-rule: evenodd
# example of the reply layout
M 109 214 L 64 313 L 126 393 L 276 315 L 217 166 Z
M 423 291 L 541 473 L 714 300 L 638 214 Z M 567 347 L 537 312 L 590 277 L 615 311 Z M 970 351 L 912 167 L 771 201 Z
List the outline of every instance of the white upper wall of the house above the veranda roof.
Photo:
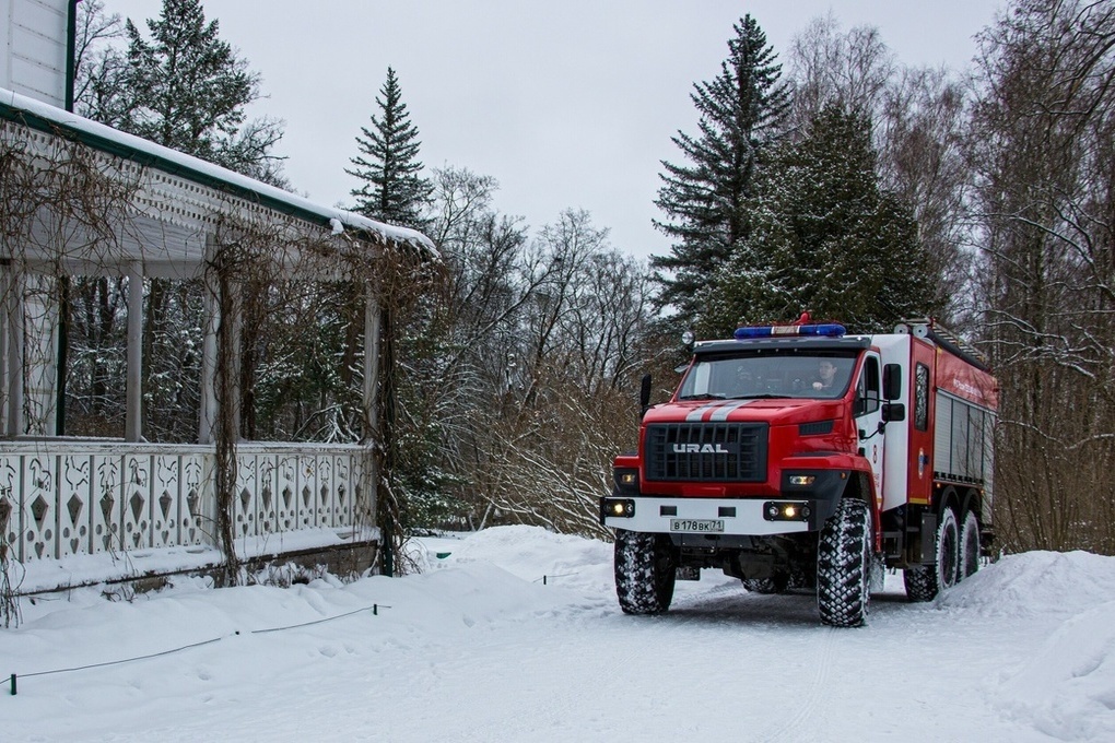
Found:
M 69 0 L 0 0 L 0 88 L 62 108 Z

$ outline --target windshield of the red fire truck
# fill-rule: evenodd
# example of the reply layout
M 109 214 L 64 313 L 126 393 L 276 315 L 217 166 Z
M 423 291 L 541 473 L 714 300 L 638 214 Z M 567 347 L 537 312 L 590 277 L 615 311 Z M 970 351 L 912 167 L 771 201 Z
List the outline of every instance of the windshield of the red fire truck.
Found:
M 746 355 L 698 358 L 686 374 L 679 400 L 816 398 L 844 395 L 855 358 L 811 351 L 762 351 Z

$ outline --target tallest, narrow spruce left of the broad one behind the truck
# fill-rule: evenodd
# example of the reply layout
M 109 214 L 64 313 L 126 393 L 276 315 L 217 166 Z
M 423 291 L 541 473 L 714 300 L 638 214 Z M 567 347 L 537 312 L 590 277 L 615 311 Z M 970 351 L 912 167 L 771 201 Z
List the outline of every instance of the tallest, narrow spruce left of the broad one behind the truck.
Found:
M 672 137 L 688 163 L 662 160 L 663 185 L 655 202 L 667 217 L 655 226 L 673 239 L 670 255 L 651 258 L 663 287 L 660 302 L 686 322 L 704 314 L 718 267 L 748 235 L 762 156 L 777 140 L 789 108 L 782 66 L 758 23 L 745 16 L 733 29 L 720 75 L 695 84 L 690 94 L 700 134 Z

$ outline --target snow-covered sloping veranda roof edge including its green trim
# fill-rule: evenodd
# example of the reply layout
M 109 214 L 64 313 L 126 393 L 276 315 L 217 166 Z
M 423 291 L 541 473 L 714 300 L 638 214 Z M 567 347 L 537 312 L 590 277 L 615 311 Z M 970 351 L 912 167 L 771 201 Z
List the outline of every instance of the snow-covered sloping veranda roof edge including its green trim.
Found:
M 3 88 L 0 88 L 0 119 L 18 121 L 40 131 L 68 131 L 94 149 L 144 167 L 163 170 L 198 185 L 230 192 L 284 214 L 320 224 L 334 234 L 340 232 L 339 227 L 352 228 L 378 235 L 385 241 L 410 244 L 436 254 L 430 239 L 415 229 L 385 224 L 345 209 L 321 206 L 282 188 Z

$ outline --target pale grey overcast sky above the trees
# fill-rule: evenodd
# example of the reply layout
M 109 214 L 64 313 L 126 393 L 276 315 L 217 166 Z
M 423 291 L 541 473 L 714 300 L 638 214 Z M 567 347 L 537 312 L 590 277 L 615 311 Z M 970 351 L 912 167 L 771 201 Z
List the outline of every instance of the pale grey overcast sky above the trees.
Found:
M 146 32 L 162 0 L 104 0 Z M 621 252 L 669 252 L 651 227 L 670 137 L 696 131 L 689 94 L 750 13 L 780 59 L 832 10 L 869 23 L 905 65 L 967 67 L 1001 0 L 204 0 L 206 19 L 263 77 L 253 108 L 285 121 L 294 188 L 351 205 L 355 138 L 395 68 L 427 168 L 495 177 L 495 206 L 533 229 L 591 212 Z M 533 231 L 532 229 L 532 231 Z

